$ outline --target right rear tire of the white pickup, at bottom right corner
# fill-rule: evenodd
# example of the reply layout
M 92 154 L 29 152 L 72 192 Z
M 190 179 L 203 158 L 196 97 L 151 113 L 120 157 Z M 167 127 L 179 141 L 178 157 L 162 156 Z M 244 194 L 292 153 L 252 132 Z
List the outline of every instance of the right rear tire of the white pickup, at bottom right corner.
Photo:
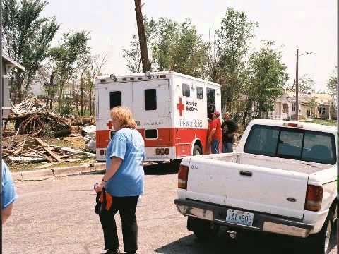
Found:
M 331 251 L 331 236 L 333 233 L 333 213 L 330 211 L 323 224 L 323 228 L 317 234 L 310 235 L 306 240 L 308 253 L 328 254 Z

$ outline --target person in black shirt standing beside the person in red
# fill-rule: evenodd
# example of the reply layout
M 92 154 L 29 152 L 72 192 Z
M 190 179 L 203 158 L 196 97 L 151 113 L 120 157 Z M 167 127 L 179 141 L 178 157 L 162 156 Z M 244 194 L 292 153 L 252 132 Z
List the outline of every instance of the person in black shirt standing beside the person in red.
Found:
M 230 119 L 230 113 L 224 114 L 225 121 L 222 123 L 222 152 L 233 152 L 234 132 L 237 124 Z

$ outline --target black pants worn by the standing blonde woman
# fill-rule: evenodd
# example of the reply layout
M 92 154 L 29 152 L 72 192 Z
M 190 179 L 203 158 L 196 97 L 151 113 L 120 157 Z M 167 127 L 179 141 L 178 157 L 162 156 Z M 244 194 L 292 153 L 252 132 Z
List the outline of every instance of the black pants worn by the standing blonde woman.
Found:
M 100 214 L 100 222 L 104 231 L 106 250 L 117 250 L 119 239 L 114 215 L 119 211 L 125 252 L 138 250 L 138 225 L 136 224 L 136 205 L 138 196 L 112 197 L 109 211 Z

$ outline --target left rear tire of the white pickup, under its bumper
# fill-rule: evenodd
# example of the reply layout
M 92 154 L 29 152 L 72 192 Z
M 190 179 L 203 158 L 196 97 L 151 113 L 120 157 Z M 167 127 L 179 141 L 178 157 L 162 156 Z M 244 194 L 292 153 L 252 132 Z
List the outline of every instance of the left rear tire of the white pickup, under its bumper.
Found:
M 196 237 L 203 241 L 213 238 L 213 236 L 218 234 L 220 226 L 208 220 L 188 217 L 187 229 L 193 231 Z

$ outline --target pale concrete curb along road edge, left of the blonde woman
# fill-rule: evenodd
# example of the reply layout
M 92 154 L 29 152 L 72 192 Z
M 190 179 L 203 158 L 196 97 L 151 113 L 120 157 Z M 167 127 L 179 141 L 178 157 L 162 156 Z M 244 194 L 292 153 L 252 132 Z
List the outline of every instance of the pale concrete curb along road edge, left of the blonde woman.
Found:
M 75 174 L 90 173 L 105 170 L 105 163 L 81 164 L 72 167 L 56 167 L 52 169 L 41 169 L 32 171 L 21 171 L 12 173 L 13 181 L 42 180 L 55 176 L 71 176 Z

